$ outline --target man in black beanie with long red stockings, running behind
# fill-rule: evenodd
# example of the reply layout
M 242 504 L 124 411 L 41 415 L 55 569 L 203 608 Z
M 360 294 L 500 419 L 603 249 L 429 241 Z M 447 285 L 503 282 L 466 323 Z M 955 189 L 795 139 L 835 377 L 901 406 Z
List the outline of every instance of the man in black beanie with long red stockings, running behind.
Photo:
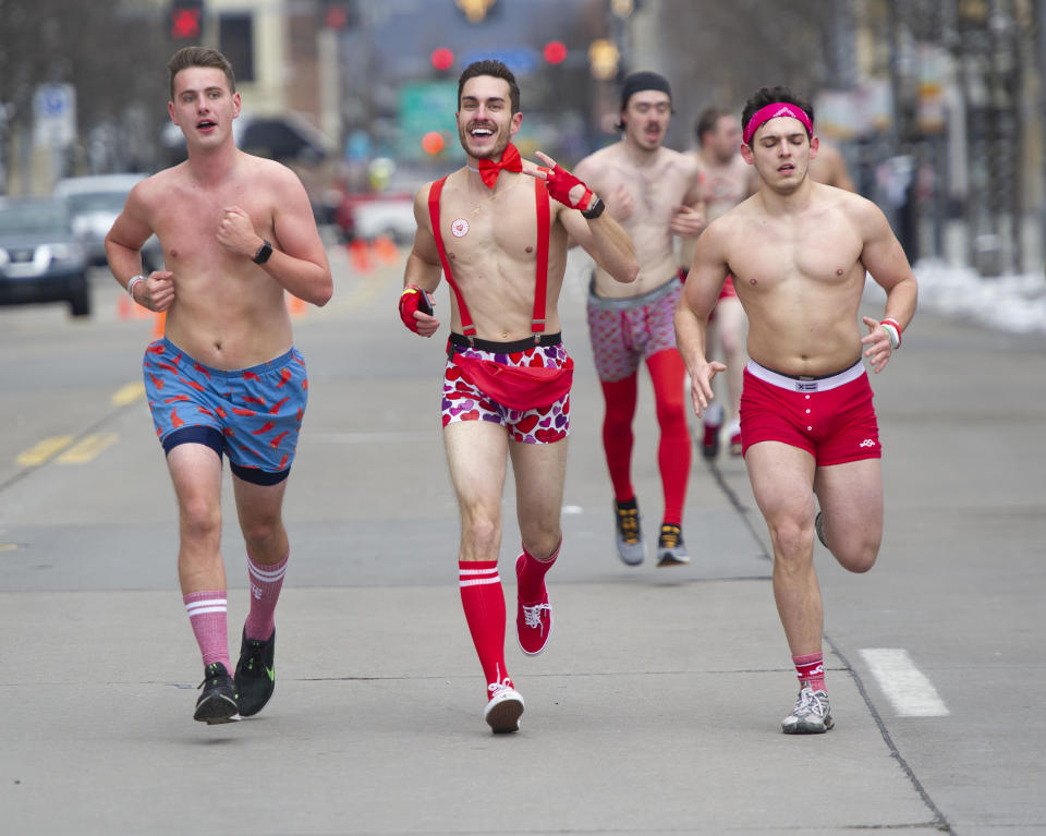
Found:
M 697 235 L 704 209 L 696 160 L 661 146 L 671 116 L 668 80 L 653 72 L 632 73 L 621 89 L 621 141 L 575 169 L 632 237 L 640 263 L 640 276 L 631 284 L 613 281 L 597 267 L 588 293 L 589 336 L 606 401 L 603 443 L 613 486 L 618 555 L 629 566 L 645 556 L 631 478 L 641 361 L 650 373 L 660 426 L 657 459 L 665 510 L 657 564 L 690 562 L 682 535 L 691 458 L 683 398 L 686 369 L 672 327 L 685 275 L 677 266 L 672 237 Z

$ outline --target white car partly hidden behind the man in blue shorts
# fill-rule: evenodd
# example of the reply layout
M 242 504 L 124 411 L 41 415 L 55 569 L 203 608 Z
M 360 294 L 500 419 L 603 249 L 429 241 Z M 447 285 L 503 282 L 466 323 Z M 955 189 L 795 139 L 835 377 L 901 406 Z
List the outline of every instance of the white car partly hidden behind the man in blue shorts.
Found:
M 73 232 L 93 266 L 106 266 L 106 235 L 123 210 L 123 204 L 135 183 L 146 177 L 139 173 L 71 177 L 59 180 L 54 186 L 54 196 L 69 204 Z M 160 242 L 153 235 L 142 247 L 142 267 L 149 272 L 162 266 L 163 252 Z

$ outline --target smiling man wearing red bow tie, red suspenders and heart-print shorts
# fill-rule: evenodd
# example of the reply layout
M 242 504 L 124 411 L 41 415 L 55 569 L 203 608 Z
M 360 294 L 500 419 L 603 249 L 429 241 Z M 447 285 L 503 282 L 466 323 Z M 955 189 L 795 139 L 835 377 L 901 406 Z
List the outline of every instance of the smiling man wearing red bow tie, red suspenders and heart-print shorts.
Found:
M 552 627 L 545 573 L 559 555 L 573 362 L 557 311 L 567 241 L 616 280 L 635 279 L 632 243 L 582 181 L 543 154 L 520 158 L 520 92 L 500 61 L 470 64 L 458 82 L 458 134 L 467 161 L 414 198 L 417 233 L 400 317 L 431 337 L 430 293 L 450 284 L 443 443 L 461 511 L 461 601 L 486 677 L 484 719 L 516 731 L 523 698 L 504 664 L 506 604 L 498 575 L 508 458 L 523 549 L 516 558 L 516 635 L 540 653 Z

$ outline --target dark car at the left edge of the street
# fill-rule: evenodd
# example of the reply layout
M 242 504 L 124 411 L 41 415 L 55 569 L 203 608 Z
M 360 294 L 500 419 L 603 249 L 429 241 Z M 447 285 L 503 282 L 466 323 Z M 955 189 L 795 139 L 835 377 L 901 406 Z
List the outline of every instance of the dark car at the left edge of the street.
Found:
M 0 304 L 69 302 L 90 314 L 87 257 L 57 197 L 0 197 Z

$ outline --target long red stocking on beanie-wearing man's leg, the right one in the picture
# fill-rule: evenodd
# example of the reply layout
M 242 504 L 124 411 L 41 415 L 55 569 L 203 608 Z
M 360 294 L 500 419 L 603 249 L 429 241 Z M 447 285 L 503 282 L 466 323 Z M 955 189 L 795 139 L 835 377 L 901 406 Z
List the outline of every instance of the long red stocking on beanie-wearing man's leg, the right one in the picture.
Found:
M 665 522 L 681 525 L 686 501 L 686 482 L 690 478 L 690 432 L 686 428 L 683 381 L 686 366 L 676 349 L 659 351 L 646 359 L 654 398 L 657 403 L 657 423 L 661 438 L 657 448 L 657 463 L 665 490 Z

